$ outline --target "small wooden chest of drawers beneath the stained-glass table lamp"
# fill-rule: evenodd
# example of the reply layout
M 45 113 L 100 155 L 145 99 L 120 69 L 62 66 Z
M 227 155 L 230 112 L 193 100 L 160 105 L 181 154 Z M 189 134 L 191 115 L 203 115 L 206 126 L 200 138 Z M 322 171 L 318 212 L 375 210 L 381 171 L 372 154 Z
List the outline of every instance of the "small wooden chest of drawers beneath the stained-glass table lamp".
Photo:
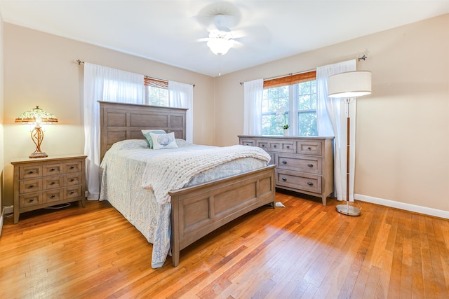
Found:
M 86 204 L 86 155 L 11 160 L 14 165 L 14 223 L 20 213 L 80 200 Z

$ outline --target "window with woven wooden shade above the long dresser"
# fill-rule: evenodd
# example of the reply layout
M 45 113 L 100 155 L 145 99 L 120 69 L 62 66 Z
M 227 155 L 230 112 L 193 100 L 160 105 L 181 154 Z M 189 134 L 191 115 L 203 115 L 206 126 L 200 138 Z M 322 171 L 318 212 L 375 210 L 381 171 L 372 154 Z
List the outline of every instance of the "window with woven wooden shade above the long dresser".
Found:
M 316 71 L 264 81 L 262 134 L 318 135 L 316 127 Z

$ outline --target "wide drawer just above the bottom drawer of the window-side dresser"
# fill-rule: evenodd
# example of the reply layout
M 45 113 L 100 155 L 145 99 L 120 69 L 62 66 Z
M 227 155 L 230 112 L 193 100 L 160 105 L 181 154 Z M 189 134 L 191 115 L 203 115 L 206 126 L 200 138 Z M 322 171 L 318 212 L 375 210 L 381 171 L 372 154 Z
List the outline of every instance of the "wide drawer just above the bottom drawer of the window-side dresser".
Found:
M 279 169 L 307 172 L 308 174 L 321 174 L 321 157 L 277 154 L 276 165 L 278 165 Z

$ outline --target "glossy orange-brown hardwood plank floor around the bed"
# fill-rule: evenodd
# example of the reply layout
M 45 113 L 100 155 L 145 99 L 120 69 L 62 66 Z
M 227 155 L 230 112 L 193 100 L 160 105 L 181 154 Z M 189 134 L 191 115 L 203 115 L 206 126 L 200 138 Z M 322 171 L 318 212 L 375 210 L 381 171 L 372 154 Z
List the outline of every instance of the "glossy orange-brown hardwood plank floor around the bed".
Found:
M 296 195 L 299 196 L 299 195 Z M 152 269 L 152 244 L 107 202 L 6 218 L 0 298 L 449 298 L 449 221 L 277 193 Z

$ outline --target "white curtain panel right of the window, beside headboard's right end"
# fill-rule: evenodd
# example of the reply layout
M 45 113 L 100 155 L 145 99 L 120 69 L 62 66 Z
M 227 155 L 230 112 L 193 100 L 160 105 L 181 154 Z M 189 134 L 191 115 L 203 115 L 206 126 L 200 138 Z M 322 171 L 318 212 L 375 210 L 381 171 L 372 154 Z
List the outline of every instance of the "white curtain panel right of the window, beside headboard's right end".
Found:
M 186 113 L 186 141 L 193 142 L 194 86 L 168 81 L 168 106 L 188 109 Z

